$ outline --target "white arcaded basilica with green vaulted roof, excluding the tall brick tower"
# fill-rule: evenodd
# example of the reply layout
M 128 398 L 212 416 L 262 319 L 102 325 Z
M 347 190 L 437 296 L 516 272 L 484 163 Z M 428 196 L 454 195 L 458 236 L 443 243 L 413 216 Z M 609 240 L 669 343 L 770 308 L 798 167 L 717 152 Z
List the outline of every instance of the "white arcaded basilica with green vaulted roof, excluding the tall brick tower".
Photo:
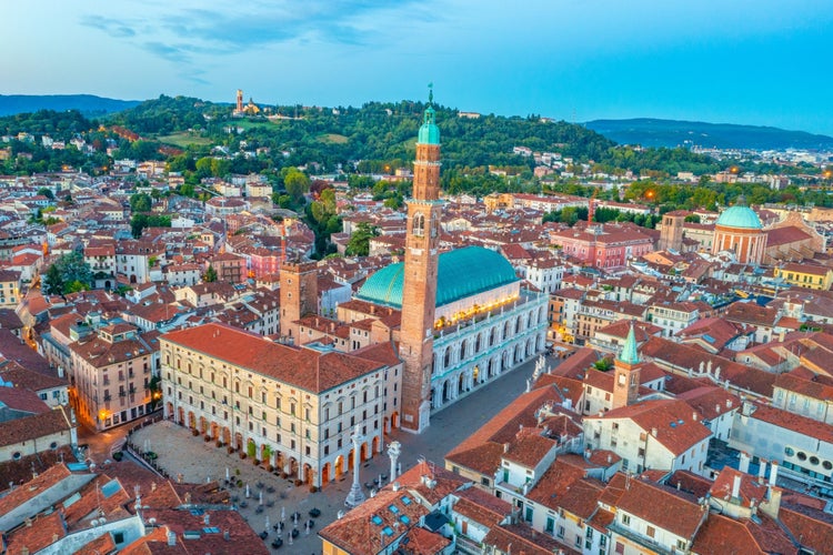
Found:
M 355 297 L 402 310 L 404 274 L 402 262 L 385 266 L 368 278 Z M 440 254 L 430 410 L 540 353 L 546 303 L 545 294 L 521 287 L 512 265 L 495 251 L 466 246 Z

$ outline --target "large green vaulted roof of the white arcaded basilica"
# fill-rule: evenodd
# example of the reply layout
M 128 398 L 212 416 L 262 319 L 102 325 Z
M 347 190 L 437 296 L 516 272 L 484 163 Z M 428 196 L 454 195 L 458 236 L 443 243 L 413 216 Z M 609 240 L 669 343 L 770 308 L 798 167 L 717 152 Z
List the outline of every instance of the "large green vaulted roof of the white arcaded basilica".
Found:
M 440 254 L 436 275 L 436 306 L 518 281 L 512 264 L 500 253 L 482 246 L 466 246 Z M 379 270 L 368 278 L 357 299 L 394 309 L 402 307 L 404 263 Z

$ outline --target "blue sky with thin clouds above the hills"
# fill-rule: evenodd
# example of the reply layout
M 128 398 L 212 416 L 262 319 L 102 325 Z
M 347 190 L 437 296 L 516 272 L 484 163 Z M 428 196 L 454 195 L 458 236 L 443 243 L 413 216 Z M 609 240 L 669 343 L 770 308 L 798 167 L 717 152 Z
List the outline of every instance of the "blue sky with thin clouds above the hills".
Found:
M 833 134 L 830 0 L 6 0 L 0 94 L 361 105 Z

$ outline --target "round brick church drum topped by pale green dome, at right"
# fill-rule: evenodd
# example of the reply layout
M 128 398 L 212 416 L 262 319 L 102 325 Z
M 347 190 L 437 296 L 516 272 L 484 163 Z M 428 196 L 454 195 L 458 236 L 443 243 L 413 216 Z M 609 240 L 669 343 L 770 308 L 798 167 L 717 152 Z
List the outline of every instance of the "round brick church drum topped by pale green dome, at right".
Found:
M 754 210 L 743 199 L 720 214 L 714 223 L 712 254 L 733 252 L 737 262 L 760 264 L 766 249 L 766 233 Z

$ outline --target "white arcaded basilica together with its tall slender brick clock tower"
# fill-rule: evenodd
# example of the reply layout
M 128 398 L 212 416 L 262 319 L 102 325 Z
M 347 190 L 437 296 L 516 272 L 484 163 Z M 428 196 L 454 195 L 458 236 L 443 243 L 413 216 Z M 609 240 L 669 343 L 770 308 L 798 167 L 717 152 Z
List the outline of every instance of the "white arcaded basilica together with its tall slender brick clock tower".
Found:
M 358 300 L 401 310 L 401 426 L 420 433 L 431 413 L 544 350 L 549 295 L 522 289 L 512 265 L 483 248 L 440 254 L 440 128 L 429 94 L 407 200 L 404 263 L 371 275 Z M 391 422 L 397 422 L 392 416 Z

